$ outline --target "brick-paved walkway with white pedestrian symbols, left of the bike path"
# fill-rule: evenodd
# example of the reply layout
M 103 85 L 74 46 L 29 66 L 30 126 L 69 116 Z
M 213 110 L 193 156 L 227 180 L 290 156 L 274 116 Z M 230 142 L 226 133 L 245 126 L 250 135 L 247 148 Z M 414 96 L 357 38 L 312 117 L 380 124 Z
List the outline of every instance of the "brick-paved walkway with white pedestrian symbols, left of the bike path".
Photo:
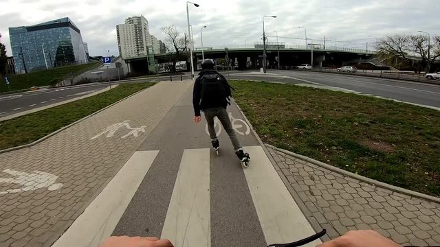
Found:
M 0 246 L 53 244 L 191 85 L 161 82 L 37 145 L 0 154 Z

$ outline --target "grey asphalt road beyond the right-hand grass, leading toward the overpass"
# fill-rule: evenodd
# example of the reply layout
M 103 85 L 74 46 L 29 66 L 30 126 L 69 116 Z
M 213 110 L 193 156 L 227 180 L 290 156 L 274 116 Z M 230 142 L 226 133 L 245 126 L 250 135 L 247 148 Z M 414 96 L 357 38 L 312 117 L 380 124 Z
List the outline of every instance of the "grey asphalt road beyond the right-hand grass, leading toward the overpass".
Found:
M 236 73 L 231 74 L 230 78 L 270 80 L 271 82 L 289 84 L 317 84 L 397 99 L 403 102 L 440 107 L 440 86 L 434 84 L 307 71 L 268 70 L 267 73 L 270 73 L 270 75 L 246 72 Z

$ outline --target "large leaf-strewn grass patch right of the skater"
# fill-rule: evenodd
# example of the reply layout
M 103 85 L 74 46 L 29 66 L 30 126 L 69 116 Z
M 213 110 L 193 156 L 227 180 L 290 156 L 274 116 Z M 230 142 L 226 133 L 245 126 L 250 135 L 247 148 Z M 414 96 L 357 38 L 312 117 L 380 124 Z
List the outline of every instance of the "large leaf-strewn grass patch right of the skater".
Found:
M 231 86 L 265 143 L 440 196 L 440 111 L 289 84 Z

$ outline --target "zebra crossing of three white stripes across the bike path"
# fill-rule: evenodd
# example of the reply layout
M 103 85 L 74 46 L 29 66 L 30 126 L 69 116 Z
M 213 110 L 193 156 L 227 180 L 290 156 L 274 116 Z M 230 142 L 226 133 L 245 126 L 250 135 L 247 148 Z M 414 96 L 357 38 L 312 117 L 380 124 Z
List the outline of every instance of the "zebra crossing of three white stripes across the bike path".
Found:
M 161 238 L 170 239 L 175 246 L 267 246 L 274 243 L 294 242 L 314 231 L 294 202 L 289 191 L 276 173 L 261 146 L 244 148 L 252 154 L 251 167 L 243 169 L 248 193 L 252 197 L 253 208 L 258 215 L 260 231 L 264 238 L 258 243 L 247 245 L 252 239 L 229 243 L 228 239 L 212 239 L 217 231 L 211 222 L 212 191 L 210 178 L 211 159 L 219 159 L 209 148 L 185 149 L 181 155 L 179 169 L 175 177 L 173 193 L 170 197 L 166 217 L 162 224 Z M 142 179 L 150 170 L 160 150 L 137 151 L 122 167 L 120 172 L 104 188 L 94 202 L 78 217 L 68 231 L 54 246 L 99 246 L 112 235 L 126 211 L 127 205 Z M 237 161 L 237 167 L 240 163 Z M 241 169 L 241 168 L 240 168 Z M 243 188 L 235 188 L 237 190 Z M 144 198 L 148 200 L 148 198 Z M 224 198 L 228 200 L 228 198 Z M 244 217 L 244 216 L 243 216 Z M 142 218 L 137 219 L 142 221 Z M 223 219 L 228 221 L 230 219 Z M 243 218 L 243 228 L 247 219 Z M 133 222 L 134 223 L 134 222 Z M 241 228 L 232 229 L 241 231 Z M 130 235 L 130 234 L 127 234 Z M 144 234 L 148 236 L 148 233 Z M 256 234 L 258 235 L 258 233 Z M 249 237 L 249 236 L 248 236 Z M 316 246 L 313 242 L 307 246 Z

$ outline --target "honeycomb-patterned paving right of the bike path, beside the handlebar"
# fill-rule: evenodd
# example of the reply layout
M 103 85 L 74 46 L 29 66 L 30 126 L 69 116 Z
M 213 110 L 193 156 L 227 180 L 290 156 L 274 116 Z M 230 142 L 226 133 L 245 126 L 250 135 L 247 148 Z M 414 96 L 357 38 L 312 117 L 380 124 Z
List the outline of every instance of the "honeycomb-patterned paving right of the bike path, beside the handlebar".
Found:
M 402 245 L 440 245 L 440 204 L 369 185 L 267 146 L 278 174 L 323 240 L 373 229 Z

